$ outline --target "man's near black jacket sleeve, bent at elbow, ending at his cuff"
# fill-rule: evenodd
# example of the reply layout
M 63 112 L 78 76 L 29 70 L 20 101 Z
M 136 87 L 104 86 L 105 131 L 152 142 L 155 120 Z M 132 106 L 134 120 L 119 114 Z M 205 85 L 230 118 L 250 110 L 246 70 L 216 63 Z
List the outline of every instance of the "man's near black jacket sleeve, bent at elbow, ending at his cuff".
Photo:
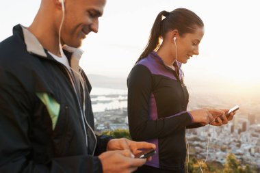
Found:
M 98 157 L 76 155 L 72 157 L 31 159 L 34 153 L 30 137 L 31 103 L 29 93 L 15 76 L 3 72 L 0 66 L 0 172 L 102 172 Z M 37 142 L 34 142 L 37 145 Z

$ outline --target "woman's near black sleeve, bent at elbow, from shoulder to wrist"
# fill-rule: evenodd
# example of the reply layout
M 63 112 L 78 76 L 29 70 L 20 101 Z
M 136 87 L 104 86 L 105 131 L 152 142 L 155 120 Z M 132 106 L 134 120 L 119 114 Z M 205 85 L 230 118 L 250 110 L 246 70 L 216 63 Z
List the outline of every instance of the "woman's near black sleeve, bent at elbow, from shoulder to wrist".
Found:
M 192 123 L 187 111 L 168 118 L 149 118 L 152 78 L 146 66 L 136 65 L 127 80 L 129 131 L 131 137 L 137 141 L 166 137 Z

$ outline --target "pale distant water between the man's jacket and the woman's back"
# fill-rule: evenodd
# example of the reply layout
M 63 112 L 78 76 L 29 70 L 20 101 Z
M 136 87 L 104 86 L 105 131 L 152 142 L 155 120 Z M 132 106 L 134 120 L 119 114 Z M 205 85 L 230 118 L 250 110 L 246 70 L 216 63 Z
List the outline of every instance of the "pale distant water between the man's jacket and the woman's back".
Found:
M 90 96 L 94 112 L 127 107 L 127 90 L 92 88 Z

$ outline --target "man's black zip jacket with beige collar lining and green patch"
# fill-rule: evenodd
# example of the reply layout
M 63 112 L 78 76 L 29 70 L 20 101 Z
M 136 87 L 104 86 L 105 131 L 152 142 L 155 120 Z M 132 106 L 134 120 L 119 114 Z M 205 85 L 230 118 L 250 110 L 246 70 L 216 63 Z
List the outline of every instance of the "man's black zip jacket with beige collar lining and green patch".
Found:
M 13 32 L 0 43 L 0 172 L 102 172 L 92 153 L 104 152 L 111 138 L 88 127 L 94 129 L 88 78 L 81 71 L 79 87 L 25 27 Z

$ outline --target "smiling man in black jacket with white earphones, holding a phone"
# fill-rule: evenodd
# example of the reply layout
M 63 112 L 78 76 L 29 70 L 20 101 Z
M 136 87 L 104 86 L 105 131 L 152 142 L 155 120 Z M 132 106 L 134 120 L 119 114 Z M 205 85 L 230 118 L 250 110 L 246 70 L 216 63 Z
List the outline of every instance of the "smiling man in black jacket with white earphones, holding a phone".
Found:
M 133 172 L 146 161 L 133 154 L 155 148 L 94 134 L 91 85 L 75 48 L 98 31 L 104 6 L 42 0 L 34 22 L 0 43 L 1 173 Z

